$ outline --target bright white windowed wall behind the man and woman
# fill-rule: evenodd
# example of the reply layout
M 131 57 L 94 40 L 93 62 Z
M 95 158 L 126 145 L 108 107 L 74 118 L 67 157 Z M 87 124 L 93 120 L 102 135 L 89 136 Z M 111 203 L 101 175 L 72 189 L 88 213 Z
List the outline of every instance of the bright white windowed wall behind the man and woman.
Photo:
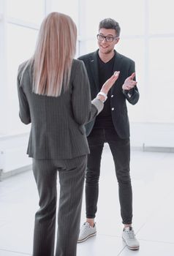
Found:
M 137 105 L 127 104 L 132 146 L 173 148 L 173 6 L 173 0 L 0 0 L 0 138 L 29 134 L 18 117 L 18 66 L 34 53 L 42 19 L 58 11 L 77 24 L 76 58 L 97 50 L 100 20 L 118 21 L 116 50 L 135 60 L 140 91 Z

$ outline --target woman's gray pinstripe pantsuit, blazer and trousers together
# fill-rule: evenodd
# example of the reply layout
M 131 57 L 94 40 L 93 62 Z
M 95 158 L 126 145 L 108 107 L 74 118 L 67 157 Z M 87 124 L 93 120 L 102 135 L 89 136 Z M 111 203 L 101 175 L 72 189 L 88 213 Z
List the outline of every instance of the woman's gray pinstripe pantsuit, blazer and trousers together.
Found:
M 75 256 L 86 155 L 85 127 L 103 108 L 91 104 L 88 75 L 82 61 L 72 61 L 69 89 L 59 97 L 34 94 L 32 63 L 18 71 L 20 119 L 31 123 L 27 154 L 33 158 L 39 192 L 39 211 L 34 225 L 33 256 L 53 256 L 56 229 L 56 176 L 60 180 L 56 256 Z

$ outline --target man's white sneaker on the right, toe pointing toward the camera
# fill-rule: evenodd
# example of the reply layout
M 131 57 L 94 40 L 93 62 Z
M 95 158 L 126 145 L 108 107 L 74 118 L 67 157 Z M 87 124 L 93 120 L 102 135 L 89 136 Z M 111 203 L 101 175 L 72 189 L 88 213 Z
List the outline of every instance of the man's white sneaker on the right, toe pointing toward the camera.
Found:
M 135 233 L 132 227 L 124 227 L 122 238 L 124 239 L 126 246 L 128 246 L 129 249 L 139 249 L 140 244 L 137 241 L 137 238 L 135 238 Z

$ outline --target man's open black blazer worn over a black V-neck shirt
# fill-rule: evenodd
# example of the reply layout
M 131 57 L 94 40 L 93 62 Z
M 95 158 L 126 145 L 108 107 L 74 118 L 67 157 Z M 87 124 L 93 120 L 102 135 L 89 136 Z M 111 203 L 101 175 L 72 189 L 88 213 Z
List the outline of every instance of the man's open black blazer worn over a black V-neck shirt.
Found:
M 116 52 L 116 51 L 115 51 Z M 88 78 L 91 86 L 91 99 L 96 97 L 99 89 L 99 71 L 98 71 L 98 50 L 93 53 L 80 56 L 88 72 Z M 114 60 L 114 70 L 120 71 L 118 80 L 111 88 L 110 92 L 110 110 L 113 119 L 113 125 L 120 138 L 129 138 L 129 117 L 127 115 L 126 99 L 132 105 L 135 105 L 139 99 L 137 86 L 129 91 L 123 91 L 124 80 L 135 72 L 135 62 L 126 56 L 116 52 Z M 86 124 L 86 135 L 88 136 L 94 127 L 94 122 Z

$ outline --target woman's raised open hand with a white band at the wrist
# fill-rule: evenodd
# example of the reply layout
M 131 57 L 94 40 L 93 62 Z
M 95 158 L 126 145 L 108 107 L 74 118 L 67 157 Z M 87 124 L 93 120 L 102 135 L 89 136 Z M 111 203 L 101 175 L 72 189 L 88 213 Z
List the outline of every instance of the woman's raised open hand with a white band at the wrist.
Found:
M 99 93 L 101 92 L 102 94 L 97 94 L 97 98 L 102 100 L 102 102 L 105 102 L 107 99 L 107 93 L 118 79 L 119 74 L 119 71 L 114 72 L 114 74 L 109 79 L 107 79 L 107 81 L 102 86 L 102 89 L 99 91 Z

